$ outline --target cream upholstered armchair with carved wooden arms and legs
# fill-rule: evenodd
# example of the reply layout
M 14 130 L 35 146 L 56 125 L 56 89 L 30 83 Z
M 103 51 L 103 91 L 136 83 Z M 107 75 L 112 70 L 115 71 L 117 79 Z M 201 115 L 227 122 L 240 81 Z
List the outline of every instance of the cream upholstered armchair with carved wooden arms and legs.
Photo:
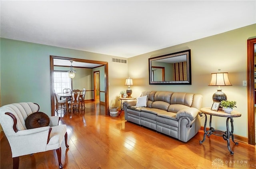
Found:
M 65 138 L 66 147 L 69 147 L 66 125 L 58 125 L 60 117 L 52 116 L 49 117 L 48 126 L 27 129 L 26 118 L 38 110 L 39 105 L 32 102 L 13 103 L 0 107 L 0 123 L 12 150 L 14 169 L 19 168 L 19 156 L 53 149 L 58 156 L 59 168 L 63 168 L 60 146 Z

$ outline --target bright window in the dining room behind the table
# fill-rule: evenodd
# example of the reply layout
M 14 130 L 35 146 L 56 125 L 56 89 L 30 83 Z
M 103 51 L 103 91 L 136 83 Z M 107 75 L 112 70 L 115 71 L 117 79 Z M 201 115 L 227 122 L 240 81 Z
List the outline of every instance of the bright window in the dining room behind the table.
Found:
M 62 93 L 63 89 L 71 89 L 71 79 L 68 78 L 68 72 L 54 72 L 54 90 L 56 93 Z

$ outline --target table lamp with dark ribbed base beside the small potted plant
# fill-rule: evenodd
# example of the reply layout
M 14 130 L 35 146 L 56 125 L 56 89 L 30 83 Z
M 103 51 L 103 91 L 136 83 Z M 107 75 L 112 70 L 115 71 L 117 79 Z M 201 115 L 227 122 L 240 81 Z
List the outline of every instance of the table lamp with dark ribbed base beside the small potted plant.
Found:
M 220 86 L 232 84 L 229 82 L 227 72 L 220 72 L 220 69 L 218 71 L 218 73 L 212 73 L 212 79 L 209 85 L 218 86 L 217 92 L 212 95 L 212 100 L 221 102 L 222 100 L 227 100 L 227 96 L 222 92 Z

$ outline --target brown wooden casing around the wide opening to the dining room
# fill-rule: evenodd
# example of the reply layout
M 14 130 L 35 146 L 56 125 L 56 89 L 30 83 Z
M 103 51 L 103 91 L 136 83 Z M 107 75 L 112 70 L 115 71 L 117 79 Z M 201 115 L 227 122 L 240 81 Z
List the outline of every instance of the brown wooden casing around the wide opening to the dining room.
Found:
M 90 63 L 90 64 L 100 64 L 104 66 L 104 97 L 105 97 L 105 115 L 108 115 L 108 62 L 100 62 L 94 60 L 85 60 L 85 59 L 77 59 L 77 58 L 66 58 L 61 56 L 50 56 L 50 95 L 51 95 L 51 115 L 55 115 L 54 110 L 54 59 L 58 60 L 70 60 L 74 62 L 83 62 L 83 63 Z

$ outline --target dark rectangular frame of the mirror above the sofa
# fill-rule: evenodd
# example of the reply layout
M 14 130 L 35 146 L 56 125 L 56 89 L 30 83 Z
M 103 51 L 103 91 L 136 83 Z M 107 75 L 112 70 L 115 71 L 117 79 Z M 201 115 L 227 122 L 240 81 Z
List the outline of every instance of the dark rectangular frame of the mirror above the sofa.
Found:
M 153 81 L 152 80 L 152 61 L 157 61 L 157 60 L 161 60 L 161 59 L 167 59 L 167 58 L 172 58 L 172 57 L 178 57 L 178 56 L 182 56 L 182 55 L 186 55 L 186 66 L 187 66 L 187 79 L 186 81 Z M 155 67 L 155 66 L 153 66 Z M 166 54 L 166 55 L 162 55 L 162 56 L 156 56 L 154 58 L 148 58 L 148 69 L 149 69 L 149 84 L 168 84 L 168 85 L 191 85 L 191 50 L 184 50 L 181 52 L 175 52 L 172 54 Z M 165 71 L 165 73 L 168 73 Z M 173 72 L 171 72 L 173 73 Z M 164 79 L 164 75 L 163 78 Z

